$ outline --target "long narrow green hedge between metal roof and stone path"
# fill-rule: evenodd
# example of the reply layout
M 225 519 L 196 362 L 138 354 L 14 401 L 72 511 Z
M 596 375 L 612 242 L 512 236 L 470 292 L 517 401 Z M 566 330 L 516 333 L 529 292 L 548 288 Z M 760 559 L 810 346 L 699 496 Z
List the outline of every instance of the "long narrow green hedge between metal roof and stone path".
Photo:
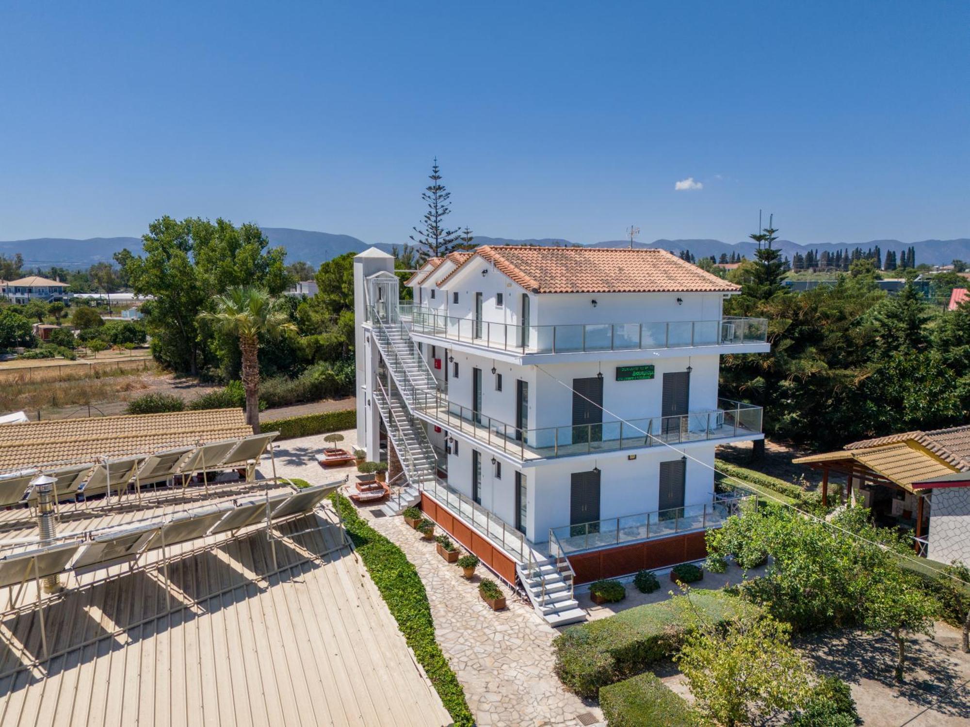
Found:
M 331 499 L 374 585 L 398 621 L 407 646 L 435 685 L 444 709 L 456 727 L 473 727 L 475 720 L 465 700 L 465 690 L 435 641 L 435 621 L 417 570 L 400 548 L 361 520 L 350 500 L 338 494 L 331 495 Z

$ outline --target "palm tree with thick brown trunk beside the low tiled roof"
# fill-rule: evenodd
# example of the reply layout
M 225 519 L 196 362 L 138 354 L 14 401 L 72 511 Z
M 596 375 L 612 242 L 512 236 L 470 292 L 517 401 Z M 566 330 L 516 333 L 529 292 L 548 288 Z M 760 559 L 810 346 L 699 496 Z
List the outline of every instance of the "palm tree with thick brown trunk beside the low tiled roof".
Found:
M 199 318 L 210 321 L 218 331 L 239 336 L 246 422 L 259 433 L 259 336 L 278 338 L 297 330 L 289 322 L 283 301 L 270 296 L 265 288 L 243 285 L 217 296 L 215 312 L 204 311 Z

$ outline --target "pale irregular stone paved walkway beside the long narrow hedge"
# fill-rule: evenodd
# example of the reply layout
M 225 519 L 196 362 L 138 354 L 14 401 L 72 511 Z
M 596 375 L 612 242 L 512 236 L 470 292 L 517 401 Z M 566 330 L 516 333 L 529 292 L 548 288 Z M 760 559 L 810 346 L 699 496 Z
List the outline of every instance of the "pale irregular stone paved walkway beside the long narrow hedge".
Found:
M 532 606 L 502 586 L 507 608 L 492 611 L 478 596 L 479 567 L 471 583 L 461 569 L 421 540 L 403 518 L 374 518 L 414 563 L 428 591 L 437 643 L 465 687 L 469 707 L 482 727 L 579 725 L 577 715 L 602 712 L 566 691 L 553 672 L 552 640 L 558 632 Z M 487 571 L 485 572 L 487 577 Z

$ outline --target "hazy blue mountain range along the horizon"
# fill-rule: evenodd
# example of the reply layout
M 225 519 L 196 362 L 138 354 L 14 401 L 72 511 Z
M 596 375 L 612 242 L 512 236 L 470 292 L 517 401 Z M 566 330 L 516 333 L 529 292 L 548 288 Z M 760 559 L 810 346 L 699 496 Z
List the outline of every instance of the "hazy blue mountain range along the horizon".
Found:
M 294 230 L 286 227 L 264 227 L 263 232 L 269 237 L 271 244 L 282 245 L 286 248 L 286 259 L 289 262 L 303 260 L 312 266 L 330 260 L 345 252 L 361 252 L 372 244 L 386 252 L 390 252 L 392 245 L 383 242 L 368 243 L 358 237 L 349 235 L 333 235 L 331 233 L 313 232 L 310 230 Z M 507 237 L 474 238 L 477 244 L 491 245 L 563 245 L 577 244 L 562 237 L 543 237 L 541 239 L 512 239 Z M 628 247 L 630 240 L 613 239 L 600 242 L 580 242 L 592 247 Z M 820 242 L 815 244 L 799 244 L 792 240 L 781 239 L 776 243 L 790 258 L 796 252 L 802 254 L 806 250 L 819 253 L 824 250 L 844 250 L 861 247 L 863 250 L 879 245 L 885 257 L 889 250 L 900 252 L 908 247 L 916 249 L 916 262 L 930 265 L 949 265 L 954 259 L 970 261 L 970 237 L 957 239 L 923 239 L 915 242 L 902 242 L 898 239 L 873 239 L 865 242 Z M 720 239 L 656 239 L 653 242 L 634 242 L 636 247 L 660 247 L 679 253 L 690 250 L 695 257 L 714 255 L 720 258 L 722 253 L 730 255 L 732 252 L 752 257 L 757 245 L 754 242 L 723 242 Z M 0 241 L 0 254 L 12 256 L 20 253 L 24 265 L 30 268 L 59 268 L 78 269 L 87 268 L 94 263 L 112 260 L 118 250 L 128 248 L 136 254 L 142 249 L 140 237 L 91 237 L 89 239 L 71 239 L 65 237 L 39 237 L 35 239 L 16 239 Z

